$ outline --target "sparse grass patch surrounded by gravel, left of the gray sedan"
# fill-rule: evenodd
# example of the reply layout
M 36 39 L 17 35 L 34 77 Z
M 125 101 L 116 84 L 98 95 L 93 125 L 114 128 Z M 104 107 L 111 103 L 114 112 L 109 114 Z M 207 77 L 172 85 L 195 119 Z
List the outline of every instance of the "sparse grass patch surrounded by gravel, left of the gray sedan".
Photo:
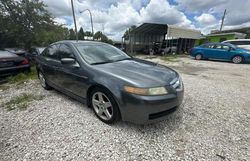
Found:
M 14 109 L 26 109 L 30 102 L 36 101 L 36 100 L 42 100 L 44 98 L 43 95 L 33 95 L 33 94 L 27 94 L 23 93 L 20 96 L 14 97 L 8 102 L 6 102 L 3 107 L 7 108 L 8 111 L 14 110 Z

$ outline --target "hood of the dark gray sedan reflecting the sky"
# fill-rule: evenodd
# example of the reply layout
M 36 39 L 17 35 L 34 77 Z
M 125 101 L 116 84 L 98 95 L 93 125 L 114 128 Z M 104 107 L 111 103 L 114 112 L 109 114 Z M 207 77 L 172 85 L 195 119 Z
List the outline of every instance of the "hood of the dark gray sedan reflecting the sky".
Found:
M 168 67 L 140 59 L 99 64 L 94 67 L 137 87 L 169 85 L 178 76 L 174 70 Z

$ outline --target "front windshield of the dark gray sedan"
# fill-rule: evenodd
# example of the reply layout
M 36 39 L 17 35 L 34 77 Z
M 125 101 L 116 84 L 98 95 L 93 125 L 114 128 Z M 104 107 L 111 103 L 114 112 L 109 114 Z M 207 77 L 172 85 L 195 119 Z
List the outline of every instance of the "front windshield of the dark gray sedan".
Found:
M 76 44 L 77 49 L 89 64 L 104 64 L 131 59 L 126 53 L 108 44 Z

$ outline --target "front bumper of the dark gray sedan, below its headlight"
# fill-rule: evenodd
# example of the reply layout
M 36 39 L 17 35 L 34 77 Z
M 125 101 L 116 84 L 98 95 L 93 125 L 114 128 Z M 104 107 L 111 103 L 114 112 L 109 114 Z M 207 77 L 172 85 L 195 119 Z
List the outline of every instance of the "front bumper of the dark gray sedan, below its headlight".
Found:
M 120 108 L 123 121 L 149 124 L 164 120 L 181 105 L 184 89 L 161 96 L 139 96 L 124 93 L 124 105 Z

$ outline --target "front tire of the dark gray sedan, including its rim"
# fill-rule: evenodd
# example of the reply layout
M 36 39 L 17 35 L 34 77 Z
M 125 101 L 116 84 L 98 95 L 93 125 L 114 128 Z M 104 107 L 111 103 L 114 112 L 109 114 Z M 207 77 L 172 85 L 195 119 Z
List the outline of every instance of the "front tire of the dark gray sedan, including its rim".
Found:
M 112 124 L 120 119 L 118 105 L 112 94 L 102 88 L 95 88 L 90 95 L 91 107 L 102 122 Z

